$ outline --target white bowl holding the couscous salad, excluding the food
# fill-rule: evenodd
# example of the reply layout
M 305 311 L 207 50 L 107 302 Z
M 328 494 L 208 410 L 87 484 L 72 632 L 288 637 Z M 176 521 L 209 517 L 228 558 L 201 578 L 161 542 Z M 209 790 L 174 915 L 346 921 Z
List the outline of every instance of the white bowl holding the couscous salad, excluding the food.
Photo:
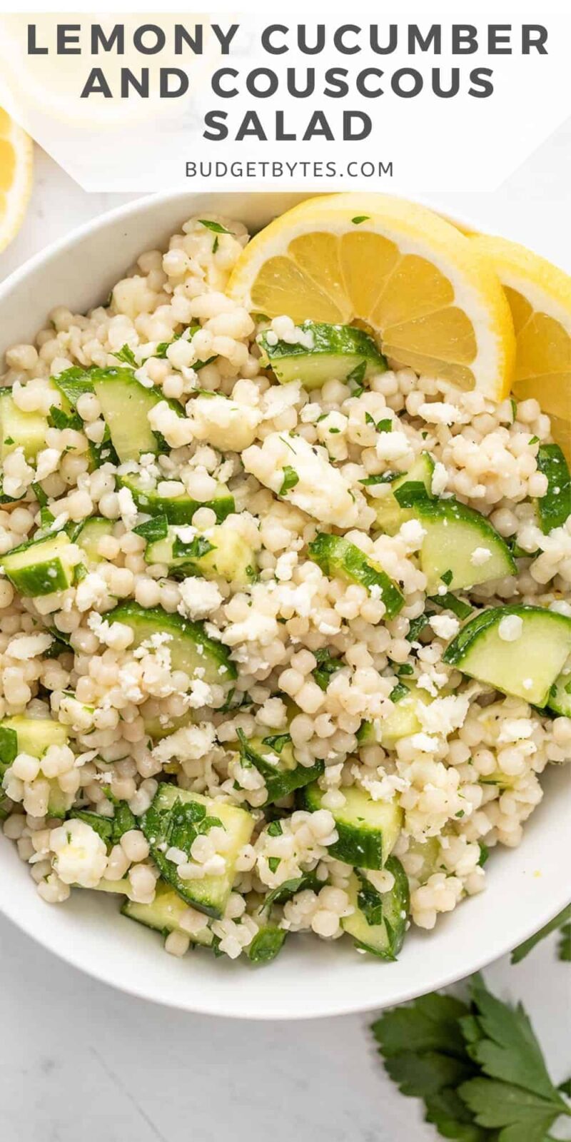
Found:
M 176 194 L 129 203 L 34 257 L 0 287 L 0 351 L 33 337 L 55 305 L 82 312 L 104 299 L 136 257 L 161 246 L 187 217 L 216 210 L 259 230 L 300 194 Z M 478 228 L 477 223 L 466 225 Z M 488 888 L 439 920 L 411 931 L 399 960 L 360 956 L 291 938 L 279 958 L 255 968 L 195 951 L 166 955 L 161 940 L 118 915 L 113 898 L 77 890 L 48 906 L 0 837 L 0 909 L 48 951 L 123 991 L 185 1011 L 249 1019 L 338 1015 L 402 1003 L 469 975 L 536 932 L 569 900 L 571 783 L 552 766 L 546 795 L 518 849 L 494 850 Z M 49 970 L 49 965 L 48 965 Z

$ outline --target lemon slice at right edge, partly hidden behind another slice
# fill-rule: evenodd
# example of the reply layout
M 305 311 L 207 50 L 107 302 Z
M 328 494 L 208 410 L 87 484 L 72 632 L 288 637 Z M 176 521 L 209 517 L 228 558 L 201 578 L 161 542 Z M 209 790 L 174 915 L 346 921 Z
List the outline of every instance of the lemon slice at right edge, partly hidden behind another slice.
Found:
M 571 461 L 571 278 L 524 246 L 477 235 L 512 309 L 516 336 L 513 391 L 534 396 Z

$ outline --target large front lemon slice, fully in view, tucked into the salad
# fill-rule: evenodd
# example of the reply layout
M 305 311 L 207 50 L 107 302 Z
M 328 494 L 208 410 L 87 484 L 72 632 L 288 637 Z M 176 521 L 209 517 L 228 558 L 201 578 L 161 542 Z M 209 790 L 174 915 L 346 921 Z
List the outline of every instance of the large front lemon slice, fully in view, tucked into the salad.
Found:
M 268 317 L 360 323 L 397 364 L 497 401 L 509 392 L 514 329 L 493 268 L 413 202 L 307 199 L 248 243 L 230 292 Z

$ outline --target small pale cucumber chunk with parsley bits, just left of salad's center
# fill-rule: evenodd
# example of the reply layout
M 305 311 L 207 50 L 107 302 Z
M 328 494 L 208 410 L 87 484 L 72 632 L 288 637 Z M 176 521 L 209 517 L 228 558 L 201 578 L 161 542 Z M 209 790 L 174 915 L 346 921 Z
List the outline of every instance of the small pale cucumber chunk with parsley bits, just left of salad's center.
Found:
M 248 541 L 230 525 L 211 528 L 208 539 L 194 536 L 185 541 L 179 529 L 169 526 L 164 539 L 148 544 L 147 563 L 166 563 L 169 569 L 200 574 L 204 579 L 217 576 L 226 582 L 248 584 L 256 577 L 256 554 Z

